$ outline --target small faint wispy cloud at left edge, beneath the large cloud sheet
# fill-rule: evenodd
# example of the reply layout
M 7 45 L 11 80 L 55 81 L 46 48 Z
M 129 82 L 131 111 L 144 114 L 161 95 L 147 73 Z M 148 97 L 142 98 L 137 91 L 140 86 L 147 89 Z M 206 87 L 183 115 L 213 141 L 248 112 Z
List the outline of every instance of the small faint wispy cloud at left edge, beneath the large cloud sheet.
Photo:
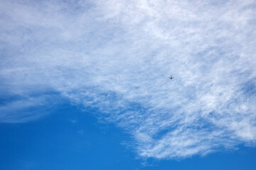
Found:
M 62 103 L 62 100 L 56 94 L 43 94 L 41 96 L 12 95 L 3 101 L 5 101 L 4 104 L 0 106 L 0 123 L 26 123 L 37 120 Z

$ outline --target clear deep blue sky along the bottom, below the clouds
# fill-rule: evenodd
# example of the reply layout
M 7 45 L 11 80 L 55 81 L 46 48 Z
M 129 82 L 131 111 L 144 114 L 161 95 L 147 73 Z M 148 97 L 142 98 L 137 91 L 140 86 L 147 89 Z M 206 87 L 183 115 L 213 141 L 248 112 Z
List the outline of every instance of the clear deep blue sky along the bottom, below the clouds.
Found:
M 256 167 L 256 149 L 194 156 L 181 160 L 137 159 L 122 145 L 129 135 L 100 124 L 93 110 L 62 106 L 29 123 L 0 124 L 0 169 L 247 169 Z

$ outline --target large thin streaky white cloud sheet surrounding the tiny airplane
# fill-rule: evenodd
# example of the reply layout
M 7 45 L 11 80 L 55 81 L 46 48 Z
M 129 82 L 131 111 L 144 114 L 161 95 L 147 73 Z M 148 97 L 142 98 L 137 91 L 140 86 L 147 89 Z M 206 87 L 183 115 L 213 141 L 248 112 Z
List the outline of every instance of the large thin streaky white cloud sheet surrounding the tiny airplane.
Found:
M 23 110 L 57 105 L 46 101 L 60 101 L 58 94 L 127 130 L 141 157 L 255 145 L 255 1 L 0 8 L 1 122 L 40 118 L 48 111 Z

